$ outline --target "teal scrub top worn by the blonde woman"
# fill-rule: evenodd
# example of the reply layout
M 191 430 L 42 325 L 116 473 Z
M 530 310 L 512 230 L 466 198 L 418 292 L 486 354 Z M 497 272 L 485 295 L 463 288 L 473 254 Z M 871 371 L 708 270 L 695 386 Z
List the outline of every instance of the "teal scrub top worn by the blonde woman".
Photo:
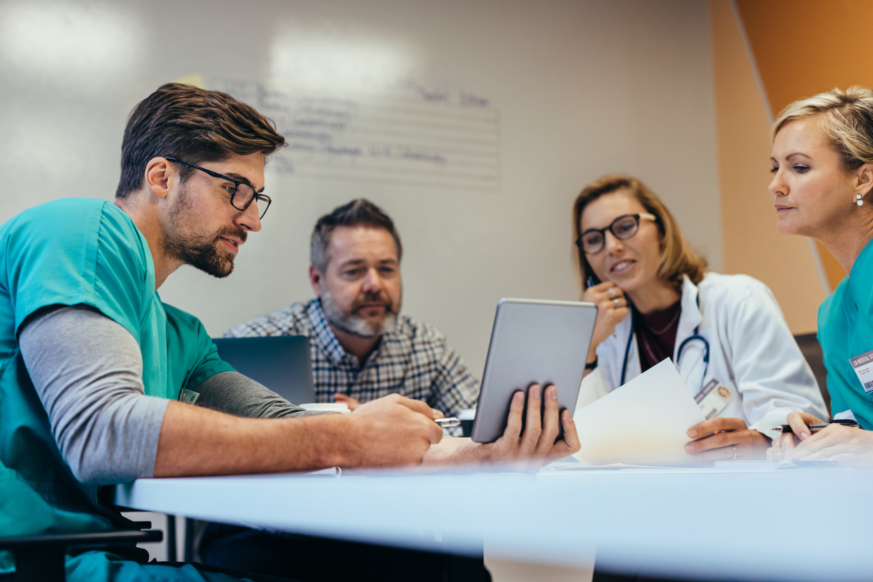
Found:
M 864 392 L 849 363 L 873 350 L 873 242 L 858 255 L 852 272 L 819 307 L 818 340 L 828 368 L 830 409 L 851 410 L 863 428 L 873 429 L 873 392 Z

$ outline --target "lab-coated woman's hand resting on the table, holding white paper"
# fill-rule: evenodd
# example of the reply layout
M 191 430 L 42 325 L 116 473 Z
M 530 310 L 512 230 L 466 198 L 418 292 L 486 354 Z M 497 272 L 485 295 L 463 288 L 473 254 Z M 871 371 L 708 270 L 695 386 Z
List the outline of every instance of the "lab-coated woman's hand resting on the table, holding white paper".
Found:
M 713 435 L 686 444 L 685 451 L 701 461 L 763 459 L 770 445 L 770 439 L 746 427 L 741 418 L 713 418 L 688 429 L 691 438 L 709 433 Z

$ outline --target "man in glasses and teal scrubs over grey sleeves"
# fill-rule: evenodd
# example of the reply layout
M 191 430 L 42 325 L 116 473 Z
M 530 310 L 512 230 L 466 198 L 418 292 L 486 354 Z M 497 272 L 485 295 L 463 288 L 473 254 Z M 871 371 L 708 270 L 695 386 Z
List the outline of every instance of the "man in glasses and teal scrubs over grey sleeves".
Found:
M 47 202 L 0 226 L 0 504 L 29 517 L 0 519 L 0 537 L 134 527 L 98 490 L 140 477 L 488 461 L 551 444 L 545 429 L 491 445 L 442 439 L 439 414 L 399 396 L 306 415 L 162 303 L 158 288 L 182 264 L 230 274 L 270 202 L 265 160 L 284 145 L 251 106 L 168 84 L 127 120 L 114 203 Z M 550 452 L 566 455 L 578 443 L 569 413 L 560 419 L 566 441 Z M 514 401 L 510 424 L 521 424 Z M 66 561 L 67 579 L 231 579 L 137 558 L 87 551 Z M 11 567 L 0 552 L 0 576 Z

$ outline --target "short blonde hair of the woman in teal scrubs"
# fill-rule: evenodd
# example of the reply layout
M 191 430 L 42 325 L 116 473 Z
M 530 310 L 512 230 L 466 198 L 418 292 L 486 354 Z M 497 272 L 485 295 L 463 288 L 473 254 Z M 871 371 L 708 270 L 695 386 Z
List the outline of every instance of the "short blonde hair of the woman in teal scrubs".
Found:
M 794 101 L 773 122 L 770 142 L 782 127 L 794 120 L 815 118 L 818 127 L 844 156 L 849 171 L 873 163 L 873 91 L 851 86 L 832 89 L 808 99 Z

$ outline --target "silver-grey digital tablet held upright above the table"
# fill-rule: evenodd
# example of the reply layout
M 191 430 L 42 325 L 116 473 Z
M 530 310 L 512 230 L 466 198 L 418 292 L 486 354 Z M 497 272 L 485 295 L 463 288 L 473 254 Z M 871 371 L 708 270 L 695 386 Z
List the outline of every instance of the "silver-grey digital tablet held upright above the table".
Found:
M 553 384 L 560 409 L 574 412 L 596 320 L 593 303 L 501 299 L 491 328 L 473 441 L 497 441 L 506 428 L 512 394 L 527 394 L 531 384 Z M 559 438 L 561 434 L 562 429 Z

